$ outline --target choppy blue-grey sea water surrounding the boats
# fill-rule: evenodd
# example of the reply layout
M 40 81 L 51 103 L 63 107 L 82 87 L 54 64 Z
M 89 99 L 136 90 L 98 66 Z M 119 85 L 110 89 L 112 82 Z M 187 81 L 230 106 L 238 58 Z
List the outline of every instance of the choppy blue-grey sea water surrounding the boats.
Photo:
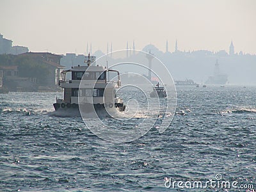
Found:
M 129 143 L 98 138 L 80 117 L 52 115 L 61 95 L 0 94 L 0 191 L 223 191 L 164 186 L 164 178 L 205 182 L 216 174 L 256 188 L 256 87 L 177 87 L 168 129 L 159 134 L 154 125 Z

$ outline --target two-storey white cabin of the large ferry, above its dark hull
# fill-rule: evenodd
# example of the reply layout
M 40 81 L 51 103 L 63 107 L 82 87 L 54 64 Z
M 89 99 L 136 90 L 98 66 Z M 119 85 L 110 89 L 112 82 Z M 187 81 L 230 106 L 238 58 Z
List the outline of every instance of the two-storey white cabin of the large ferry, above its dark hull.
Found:
M 71 73 L 71 79 L 66 79 Z M 115 77 L 112 81 L 107 74 Z M 113 73 L 115 73 L 113 75 Z M 64 102 L 78 104 L 79 102 L 104 104 L 114 103 L 116 90 L 121 86 L 120 74 L 116 70 L 106 69 L 102 66 L 77 66 L 61 72 L 61 88 L 64 88 Z M 80 86 L 80 89 L 79 89 Z

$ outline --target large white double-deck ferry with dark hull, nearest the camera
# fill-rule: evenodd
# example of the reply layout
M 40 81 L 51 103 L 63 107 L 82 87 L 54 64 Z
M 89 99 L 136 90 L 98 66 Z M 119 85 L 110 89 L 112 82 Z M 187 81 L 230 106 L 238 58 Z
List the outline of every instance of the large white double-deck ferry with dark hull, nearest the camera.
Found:
M 106 108 L 125 110 L 123 99 L 116 97 L 116 90 L 121 87 L 120 73 L 95 65 L 95 58 L 88 54 L 84 60 L 87 65 L 78 65 L 61 72 L 59 86 L 64 89 L 64 98 L 56 98 L 53 104 L 55 111 L 79 109 L 81 113 L 82 109 L 90 113 L 94 108 L 98 114 L 99 111 L 106 111 Z M 109 81 L 109 74 L 111 77 L 114 75 L 117 81 Z M 68 80 L 68 77 L 71 79 Z

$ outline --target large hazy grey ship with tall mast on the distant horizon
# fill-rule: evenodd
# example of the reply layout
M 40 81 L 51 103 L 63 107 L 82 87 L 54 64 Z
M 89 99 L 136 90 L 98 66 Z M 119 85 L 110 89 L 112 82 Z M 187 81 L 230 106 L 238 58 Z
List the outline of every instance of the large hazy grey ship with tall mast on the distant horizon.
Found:
M 227 74 L 221 74 L 220 72 L 220 64 L 218 60 L 216 60 L 215 67 L 214 67 L 214 76 L 210 76 L 205 84 L 226 84 L 228 81 Z

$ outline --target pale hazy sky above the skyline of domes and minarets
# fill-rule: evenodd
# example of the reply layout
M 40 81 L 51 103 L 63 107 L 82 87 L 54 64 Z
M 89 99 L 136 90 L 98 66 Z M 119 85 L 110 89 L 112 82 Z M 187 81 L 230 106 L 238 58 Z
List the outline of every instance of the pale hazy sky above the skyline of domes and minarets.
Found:
M 169 51 L 207 49 L 256 54 L 255 0 L 0 0 L 0 33 L 30 51 L 106 52 L 147 44 Z M 110 50 L 110 49 L 109 49 Z

